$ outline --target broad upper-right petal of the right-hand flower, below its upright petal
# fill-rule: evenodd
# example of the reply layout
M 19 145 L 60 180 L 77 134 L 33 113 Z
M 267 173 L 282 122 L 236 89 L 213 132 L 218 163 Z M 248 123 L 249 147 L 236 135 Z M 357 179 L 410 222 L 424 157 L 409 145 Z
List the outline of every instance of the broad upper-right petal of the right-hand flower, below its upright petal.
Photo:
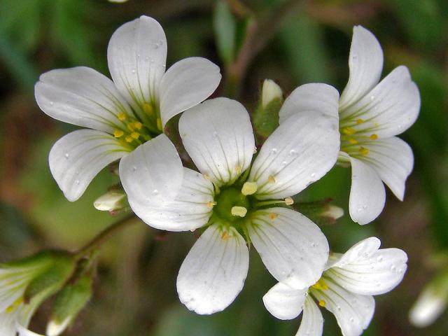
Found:
M 340 114 L 344 119 L 364 120 L 351 125 L 356 134 L 377 134 L 392 137 L 405 132 L 419 116 L 419 88 L 412 81 L 406 66 L 398 66 L 381 83 L 365 94 L 356 104 Z

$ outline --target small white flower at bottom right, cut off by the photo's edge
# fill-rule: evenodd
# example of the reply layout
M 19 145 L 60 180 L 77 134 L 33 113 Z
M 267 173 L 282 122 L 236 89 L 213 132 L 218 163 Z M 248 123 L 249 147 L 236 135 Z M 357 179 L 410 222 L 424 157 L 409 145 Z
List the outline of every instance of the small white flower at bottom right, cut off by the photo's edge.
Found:
M 276 318 L 289 320 L 303 311 L 297 336 L 321 336 L 323 318 L 318 306 L 335 315 L 344 336 L 358 336 L 374 314 L 372 295 L 387 293 L 402 281 L 407 255 L 398 248 L 381 248 L 376 237 L 358 242 L 344 254 L 330 253 L 321 279 L 297 290 L 277 283 L 263 297 Z

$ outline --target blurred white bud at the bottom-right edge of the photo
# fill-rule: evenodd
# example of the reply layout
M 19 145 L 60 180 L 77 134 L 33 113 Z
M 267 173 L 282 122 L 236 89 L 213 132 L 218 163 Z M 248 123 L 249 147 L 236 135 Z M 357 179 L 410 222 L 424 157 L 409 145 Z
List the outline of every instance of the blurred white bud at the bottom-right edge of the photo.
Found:
M 448 269 L 423 288 L 411 311 L 409 321 L 423 328 L 432 324 L 448 305 Z

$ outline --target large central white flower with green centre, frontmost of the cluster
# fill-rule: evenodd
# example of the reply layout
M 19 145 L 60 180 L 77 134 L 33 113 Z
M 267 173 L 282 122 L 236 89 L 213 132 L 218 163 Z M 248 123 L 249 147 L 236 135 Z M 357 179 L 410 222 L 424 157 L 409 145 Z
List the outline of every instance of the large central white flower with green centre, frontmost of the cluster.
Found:
M 167 165 L 146 173 L 158 144 L 141 146 L 144 155 L 123 158 L 120 175 L 130 206 L 154 228 L 170 231 L 207 229 L 184 260 L 177 279 L 181 302 L 198 314 L 225 309 L 238 295 L 248 272 L 243 235 L 279 281 L 303 288 L 318 280 L 328 258 L 321 230 L 288 209 L 290 196 L 321 179 L 337 160 L 337 91 L 321 85 L 331 104 L 316 101 L 281 125 L 253 160 L 255 141 L 244 106 L 217 98 L 186 111 L 179 133 L 199 174 L 184 168 L 183 186 L 174 202 L 160 200 L 157 185 L 170 179 Z M 300 88 L 299 88 L 300 89 Z M 297 89 L 283 104 L 302 99 Z M 298 94 L 297 94 L 298 93 Z M 152 176 L 158 176 L 154 179 Z M 283 207 L 278 207 L 278 205 Z

